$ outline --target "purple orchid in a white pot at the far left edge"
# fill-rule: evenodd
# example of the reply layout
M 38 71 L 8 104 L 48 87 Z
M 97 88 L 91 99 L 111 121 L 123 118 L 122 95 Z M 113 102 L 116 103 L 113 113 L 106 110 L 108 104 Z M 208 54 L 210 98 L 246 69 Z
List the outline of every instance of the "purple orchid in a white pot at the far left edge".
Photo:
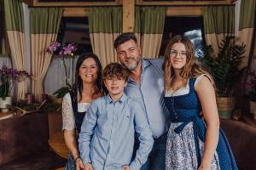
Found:
M 26 71 L 17 71 L 3 65 L 0 69 L 0 108 L 3 112 L 9 111 L 6 105 L 11 105 L 12 97 L 9 95 L 16 82 L 32 77 Z

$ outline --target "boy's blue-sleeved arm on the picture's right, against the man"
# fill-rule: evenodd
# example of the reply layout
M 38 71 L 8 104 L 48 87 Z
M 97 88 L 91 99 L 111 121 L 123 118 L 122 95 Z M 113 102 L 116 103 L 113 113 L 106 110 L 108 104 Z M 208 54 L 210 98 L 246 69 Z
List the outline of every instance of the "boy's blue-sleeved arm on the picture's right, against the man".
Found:
M 143 111 L 143 107 L 139 105 L 139 102 L 134 100 L 133 111 L 135 117 L 135 130 L 139 134 L 140 145 L 136 152 L 135 159 L 131 161 L 131 170 L 140 169 L 148 159 L 148 154 L 152 150 L 154 139 L 152 132 L 148 125 L 146 113 Z

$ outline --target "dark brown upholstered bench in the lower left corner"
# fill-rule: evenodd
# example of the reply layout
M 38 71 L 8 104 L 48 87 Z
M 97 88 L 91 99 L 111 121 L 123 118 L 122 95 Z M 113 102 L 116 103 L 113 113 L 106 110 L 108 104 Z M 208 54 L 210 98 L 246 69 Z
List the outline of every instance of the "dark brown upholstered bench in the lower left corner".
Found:
M 0 169 L 55 169 L 66 160 L 49 150 L 46 113 L 0 121 Z M 27 167 L 29 166 L 29 167 Z

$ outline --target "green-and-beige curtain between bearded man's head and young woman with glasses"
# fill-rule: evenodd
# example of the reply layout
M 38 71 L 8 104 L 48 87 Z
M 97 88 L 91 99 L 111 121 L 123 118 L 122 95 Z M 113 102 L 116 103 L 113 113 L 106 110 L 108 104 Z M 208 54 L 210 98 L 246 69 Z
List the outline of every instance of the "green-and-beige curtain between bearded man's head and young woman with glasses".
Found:
M 158 58 L 165 26 L 166 8 L 137 7 L 135 34 L 144 58 Z

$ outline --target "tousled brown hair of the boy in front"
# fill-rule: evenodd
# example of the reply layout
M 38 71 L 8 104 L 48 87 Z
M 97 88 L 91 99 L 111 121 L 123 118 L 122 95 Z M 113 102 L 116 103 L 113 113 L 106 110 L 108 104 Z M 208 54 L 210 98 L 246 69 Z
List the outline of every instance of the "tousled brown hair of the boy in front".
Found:
M 105 81 L 108 77 L 124 79 L 125 82 L 127 82 L 129 77 L 129 71 L 127 71 L 125 66 L 119 63 L 110 63 L 104 68 L 102 73 L 103 81 Z

